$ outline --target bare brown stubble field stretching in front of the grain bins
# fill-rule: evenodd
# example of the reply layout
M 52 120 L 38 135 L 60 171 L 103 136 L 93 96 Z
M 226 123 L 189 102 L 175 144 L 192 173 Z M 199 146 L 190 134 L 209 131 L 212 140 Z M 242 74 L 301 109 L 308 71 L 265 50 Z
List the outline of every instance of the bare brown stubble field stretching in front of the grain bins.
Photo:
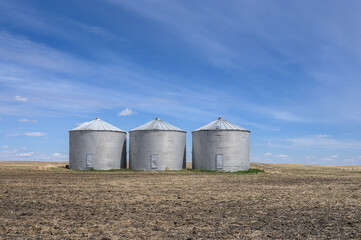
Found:
M 361 239 L 361 172 L 82 172 L 0 162 L 2 239 Z

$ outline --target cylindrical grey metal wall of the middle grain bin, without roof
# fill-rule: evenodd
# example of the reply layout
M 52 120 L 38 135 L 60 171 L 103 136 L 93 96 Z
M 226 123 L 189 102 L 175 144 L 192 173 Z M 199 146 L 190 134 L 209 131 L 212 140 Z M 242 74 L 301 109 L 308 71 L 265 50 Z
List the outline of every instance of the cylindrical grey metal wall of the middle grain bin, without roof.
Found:
M 150 157 L 158 154 L 155 170 L 181 170 L 184 166 L 186 133 L 135 130 L 129 132 L 129 168 L 152 170 Z

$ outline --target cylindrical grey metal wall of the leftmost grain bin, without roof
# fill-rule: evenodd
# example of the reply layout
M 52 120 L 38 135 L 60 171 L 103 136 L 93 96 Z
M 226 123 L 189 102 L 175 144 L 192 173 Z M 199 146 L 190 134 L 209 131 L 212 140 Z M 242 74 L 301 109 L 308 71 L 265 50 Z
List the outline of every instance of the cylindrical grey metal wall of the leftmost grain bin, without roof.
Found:
M 126 167 L 126 133 L 69 131 L 69 168 L 86 170 L 86 155 L 93 154 L 93 169 Z

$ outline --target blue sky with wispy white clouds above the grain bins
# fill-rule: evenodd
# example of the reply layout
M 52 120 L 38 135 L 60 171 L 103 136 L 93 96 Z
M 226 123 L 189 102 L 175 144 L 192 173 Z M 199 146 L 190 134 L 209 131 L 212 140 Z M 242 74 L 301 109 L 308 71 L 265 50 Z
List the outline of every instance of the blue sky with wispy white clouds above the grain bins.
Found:
M 155 117 L 251 130 L 251 161 L 361 165 L 360 1 L 0 1 L 0 160 Z

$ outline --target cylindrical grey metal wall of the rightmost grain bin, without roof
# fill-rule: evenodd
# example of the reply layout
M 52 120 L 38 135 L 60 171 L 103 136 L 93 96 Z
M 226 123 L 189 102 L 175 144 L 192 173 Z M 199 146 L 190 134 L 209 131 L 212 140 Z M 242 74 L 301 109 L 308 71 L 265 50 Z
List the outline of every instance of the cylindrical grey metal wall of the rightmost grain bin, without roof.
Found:
M 192 167 L 217 170 L 216 155 L 223 154 L 223 171 L 248 170 L 249 136 L 249 131 L 194 131 L 192 133 Z

